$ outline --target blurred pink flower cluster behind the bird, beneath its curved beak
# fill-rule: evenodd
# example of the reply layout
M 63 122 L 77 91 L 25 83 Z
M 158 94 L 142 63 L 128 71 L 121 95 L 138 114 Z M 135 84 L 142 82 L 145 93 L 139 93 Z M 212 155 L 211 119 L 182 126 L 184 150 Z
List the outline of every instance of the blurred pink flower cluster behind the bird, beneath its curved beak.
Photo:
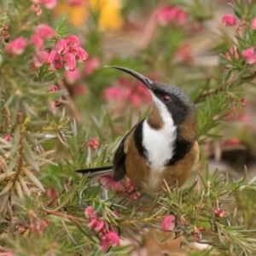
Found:
M 119 85 L 103 90 L 103 97 L 108 101 L 129 101 L 134 107 L 151 102 L 151 96 L 146 86 L 137 81 L 119 79 Z

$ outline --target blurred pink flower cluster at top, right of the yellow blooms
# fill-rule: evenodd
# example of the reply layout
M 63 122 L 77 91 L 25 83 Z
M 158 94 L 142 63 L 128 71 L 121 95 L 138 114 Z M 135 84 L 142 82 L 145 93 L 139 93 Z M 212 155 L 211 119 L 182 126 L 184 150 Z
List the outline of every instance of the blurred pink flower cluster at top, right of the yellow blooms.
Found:
M 187 20 L 187 14 L 180 8 L 174 5 L 165 5 L 156 10 L 155 18 L 160 25 L 166 26 L 170 22 L 183 25 Z

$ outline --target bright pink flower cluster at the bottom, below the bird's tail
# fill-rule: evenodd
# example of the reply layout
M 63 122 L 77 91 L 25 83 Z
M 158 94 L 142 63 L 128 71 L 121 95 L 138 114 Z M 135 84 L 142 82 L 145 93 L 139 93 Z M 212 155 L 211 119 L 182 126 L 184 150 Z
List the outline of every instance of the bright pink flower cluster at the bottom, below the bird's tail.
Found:
M 108 247 L 119 246 L 120 239 L 119 234 L 113 230 L 113 224 L 111 227 L 107 226 L 103 220 L 99 218 L 99 214 L 95 212 L 93 207 L 85 208 L 85 216 L 90 219 L 88 227 L 90 230 L 94 230 L 100 239 L 99 245 L 102 251 L 108 250 Z M 116 216 L 117 212 L 113 212 Z

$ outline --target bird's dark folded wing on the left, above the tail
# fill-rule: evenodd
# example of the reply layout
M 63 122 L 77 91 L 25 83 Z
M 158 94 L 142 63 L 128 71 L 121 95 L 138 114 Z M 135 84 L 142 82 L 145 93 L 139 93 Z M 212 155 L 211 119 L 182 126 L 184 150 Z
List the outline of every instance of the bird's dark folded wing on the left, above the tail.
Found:
M 123 177 L 125 177 L 126 174 L 126 168 L 125 168 L 125 141 L 127 137 L 131 134 L 131 132 L 135 129 L 137 125 L 135 125 L 131 131 L 129 131 L 125 137 L 123 137 L 121 143 L 119 143 L 119 148 L 116 150 L 114 156 L 113 156 L 113 179 L 115 181 L 121 180 Z

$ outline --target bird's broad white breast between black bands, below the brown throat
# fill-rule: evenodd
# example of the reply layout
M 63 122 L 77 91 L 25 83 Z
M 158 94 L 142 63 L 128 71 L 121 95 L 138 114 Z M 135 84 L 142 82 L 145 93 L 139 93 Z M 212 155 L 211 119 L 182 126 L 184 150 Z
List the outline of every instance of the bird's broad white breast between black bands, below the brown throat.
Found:
M 143 124 L 143 148 L 148 159 L 151 174 L 163 172 L 166 162 L 172 158 L 175 148 L 177 128 L 172 122 L 166 122 L 159 130 L 151 128 L 147 122 Z

